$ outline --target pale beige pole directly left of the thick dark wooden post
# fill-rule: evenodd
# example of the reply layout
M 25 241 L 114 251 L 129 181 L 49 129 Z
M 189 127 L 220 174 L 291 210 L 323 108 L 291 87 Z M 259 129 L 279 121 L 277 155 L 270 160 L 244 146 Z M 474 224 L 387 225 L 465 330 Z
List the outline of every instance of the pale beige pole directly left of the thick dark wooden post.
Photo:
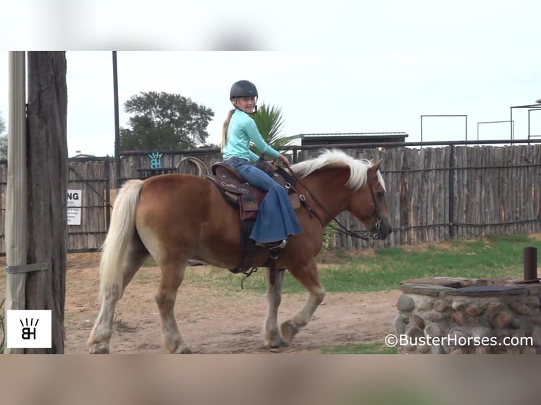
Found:
M 28 241 L 26 179 L 25 52 L 9 52 L 8 181 L 6 188 L 6 265 L 25 265 Z M 25 309 L 26 274 L 6 274 L 6 311 Z M 7 327 L 7 325 L 6 325 Z M 9 349 L 6 354 L 24 353 Z

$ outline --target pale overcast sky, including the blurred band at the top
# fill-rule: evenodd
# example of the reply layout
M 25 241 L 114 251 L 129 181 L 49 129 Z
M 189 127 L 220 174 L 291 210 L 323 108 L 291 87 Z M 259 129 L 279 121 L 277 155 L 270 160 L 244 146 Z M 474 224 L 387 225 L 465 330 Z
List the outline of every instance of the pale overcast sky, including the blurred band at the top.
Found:
M 404 131 L 417 141 L 421 115 L 459 114 L 467 115 L 468 139 L 476 139 L 478 122 L 509 120 L 509 107 L 541 99 L 540 1 L 338 0 L 318 8 L 278 0 L 257 17 L 254 10 L 232 13 L 215 4 L 215 12 L 200 20 L 176 9 L 164 13 L 165 3 L 155 1 L 151 10 L 130 11 L 131 18 L 119 23 L 112 15 L 120 8 L 103 1 L 76 8 L 56 3 L 65 17 L 60 25 L 37 35 L 37 8 L 35 25 L 8 47 L 149 49 L 118 52 L 121 126 L 128 118 L 123 104 L 132 95 L 179 93 L 213 109 L 208 140 L 219 143 L 230 86 L 241 79 L 256 84 L 259 104 L 282 107 L 286 135 Z M 194 16 L 203 16 L 210 3 L 197 2 Z M 153 20 L 157 13 L 160 21 Z M 153 20 L 147 37 L 136 24 L 143 17 Z M 279 52 L 150 51 L 232 46 Z M 113 155 L 112 52 L 68 51 L 66 59 L 69 155 Z M 0 52 L 0 114 L 8 121 L 7 51 Z M 513 119 L 515 138 L 526 138 L 528 111 L 513 111 Z M 530 131 L 541 135 L 541 111 L 530 119 Z M 428 117 L 422 132 L 423 140 L 462 140 L 465 119 Z M 482 124 L 479 134 L 506 139 L 510 125 Z

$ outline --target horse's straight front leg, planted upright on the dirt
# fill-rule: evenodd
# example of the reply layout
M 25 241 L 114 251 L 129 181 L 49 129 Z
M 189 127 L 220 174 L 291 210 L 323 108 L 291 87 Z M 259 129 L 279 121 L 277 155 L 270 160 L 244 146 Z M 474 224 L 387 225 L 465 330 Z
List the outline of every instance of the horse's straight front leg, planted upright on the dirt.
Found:
M 263 334 L 265 335 L 265 345 L 271 348 L 287 347 L 289 344 L 278 330 L 278 307 L 282 301 L 282 286 L 284 282 L 285 270 L 275 272 L 275 283 L 271 284 L 270 270 L 267 269 L 267 315 Z

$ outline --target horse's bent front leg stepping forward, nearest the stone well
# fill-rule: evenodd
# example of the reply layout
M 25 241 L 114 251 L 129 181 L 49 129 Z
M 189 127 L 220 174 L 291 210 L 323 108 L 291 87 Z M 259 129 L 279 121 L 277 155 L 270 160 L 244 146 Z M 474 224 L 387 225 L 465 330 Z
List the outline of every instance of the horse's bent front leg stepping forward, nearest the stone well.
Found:
M 290 269 L 291 274 L 297 279 L 305 289 L 308 290 L 309 297 L 302 310 L 299 311 L 293 318 L 286 320 L 281 325 L 283 337 L 286 341 L 291 341 L 299 330 L 310 322 L 316 308 L 323 301 L 325 289 L 319 281 L 317 273 L 316 260 L 311 259 L 306 265 Z

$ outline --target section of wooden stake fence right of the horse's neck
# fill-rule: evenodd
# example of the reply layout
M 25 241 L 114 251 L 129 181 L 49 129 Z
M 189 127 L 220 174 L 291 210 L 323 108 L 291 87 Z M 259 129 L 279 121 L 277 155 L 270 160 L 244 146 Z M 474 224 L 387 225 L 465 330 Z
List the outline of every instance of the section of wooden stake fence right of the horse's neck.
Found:
M 338 248 L 541 232 L 539 144 L 347 152 L 384 160 L 393 234 L 386 241 L 368 243 L 338 235 Z M 359 223 L 349 213 L 341 214 L 340 220 L 359 230 Z

